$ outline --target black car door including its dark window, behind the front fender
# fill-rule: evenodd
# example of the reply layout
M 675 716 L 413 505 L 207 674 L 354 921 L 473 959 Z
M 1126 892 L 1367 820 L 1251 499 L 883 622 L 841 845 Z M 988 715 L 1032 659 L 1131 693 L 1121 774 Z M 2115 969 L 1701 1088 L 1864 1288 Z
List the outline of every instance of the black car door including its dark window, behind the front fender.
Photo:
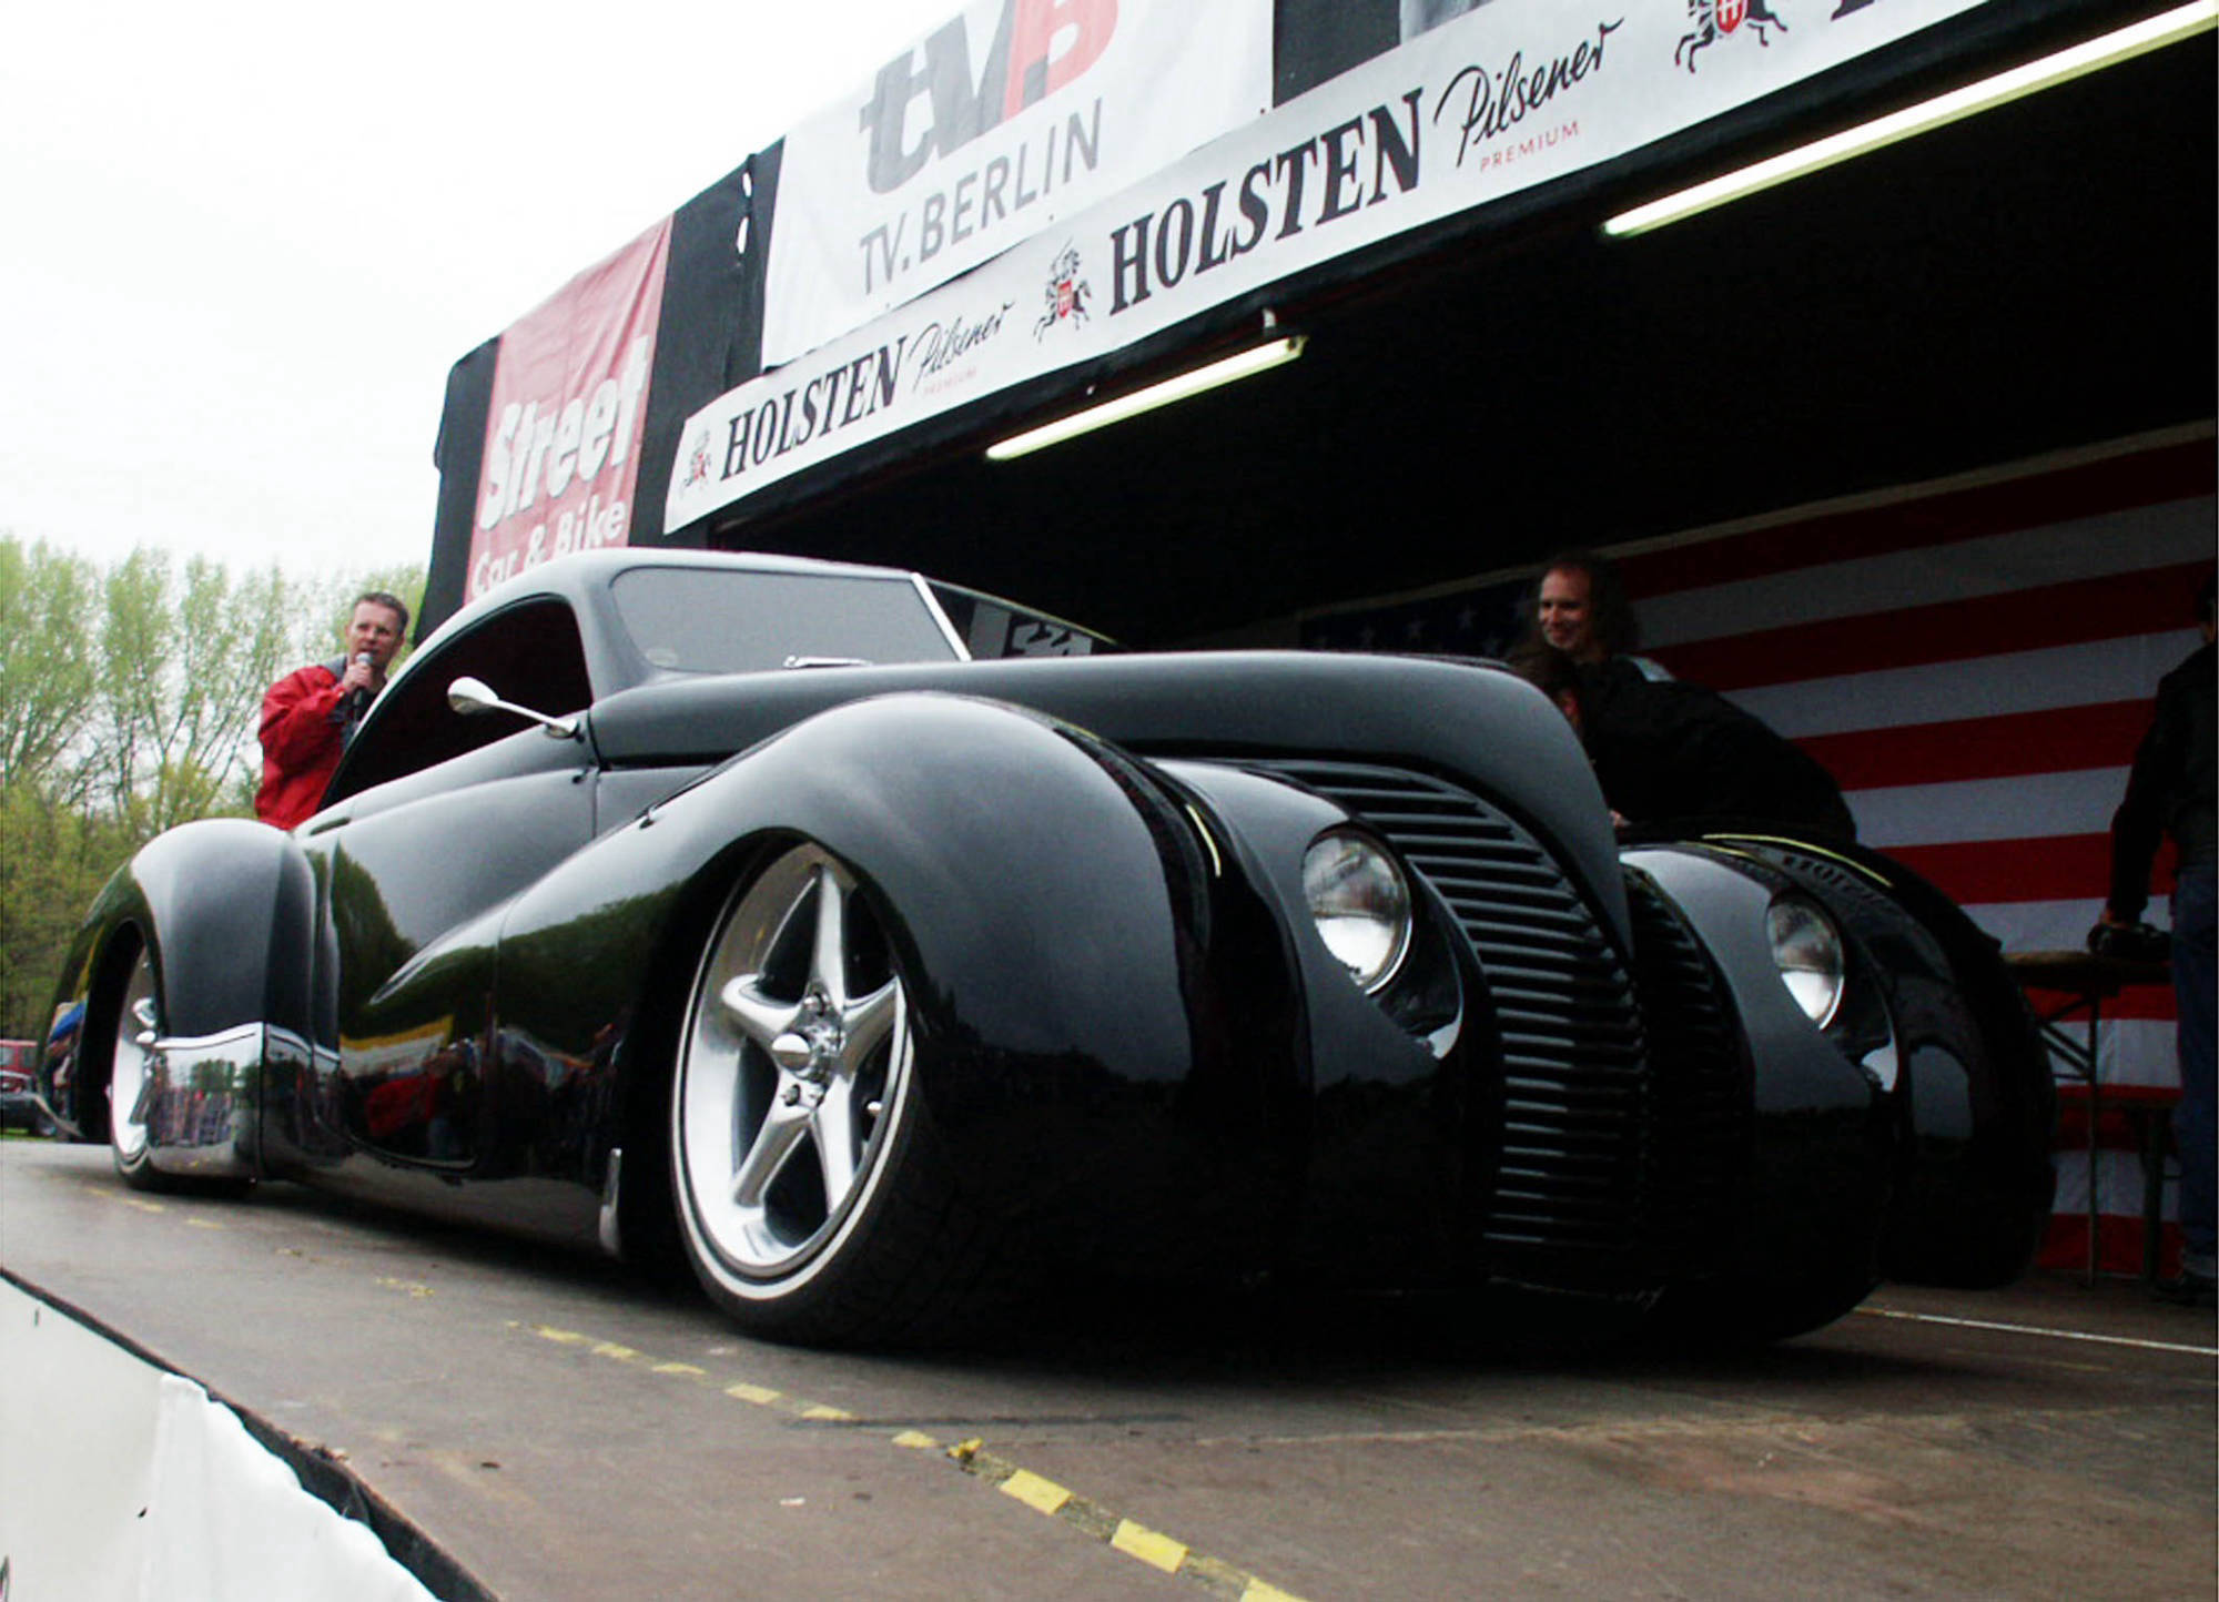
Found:
M 282 1123 L 295 1160 L 315 1167 L 484 1169 L 499 908 L 592 839 L 584 719 L 553 737 L 508 712 L 455 712 L 446 688 L 462 675 L 548 714 L 590 703 L 564 601 L 490 615 L 411 663 L 300 828 L 315 876 L 315 1043 Z

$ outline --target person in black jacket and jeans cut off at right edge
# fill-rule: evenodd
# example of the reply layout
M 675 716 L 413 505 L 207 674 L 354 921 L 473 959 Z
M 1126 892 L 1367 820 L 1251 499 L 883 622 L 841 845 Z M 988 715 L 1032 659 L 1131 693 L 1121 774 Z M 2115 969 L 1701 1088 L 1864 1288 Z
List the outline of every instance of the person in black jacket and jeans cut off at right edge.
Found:
M 2132 927 L 2150 903 L 2150 863 L 2161 834 L 2172 837 L 2172 996 L 2179 1012 L 2181 1105 L 2172 1140 L 2181 1152 L 2181 1274 L 2164 1291 L 2175 1300 L 2210 1305 L 2212 1280 L 2212 1010 L 2219 954 L 2212 943 L 2219 823 L 2212 808 L 2215 681 L 2212 577 L 2197 592 L 2203 646 L 2157 681 L 2157 710 L 2135 750 L 2126 799 L 2110 821 L 2110 894 L 2088 943 L 2104 947 L 2106 930 Z

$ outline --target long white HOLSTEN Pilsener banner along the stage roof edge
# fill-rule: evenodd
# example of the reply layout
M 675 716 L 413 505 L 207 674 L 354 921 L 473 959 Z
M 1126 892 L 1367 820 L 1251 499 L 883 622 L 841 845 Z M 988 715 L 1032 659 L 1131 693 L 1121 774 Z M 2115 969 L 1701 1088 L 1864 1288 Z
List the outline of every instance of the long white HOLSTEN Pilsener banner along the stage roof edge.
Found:
M 1493 0 L 695 413 L 666 528 L 1986 2 Z

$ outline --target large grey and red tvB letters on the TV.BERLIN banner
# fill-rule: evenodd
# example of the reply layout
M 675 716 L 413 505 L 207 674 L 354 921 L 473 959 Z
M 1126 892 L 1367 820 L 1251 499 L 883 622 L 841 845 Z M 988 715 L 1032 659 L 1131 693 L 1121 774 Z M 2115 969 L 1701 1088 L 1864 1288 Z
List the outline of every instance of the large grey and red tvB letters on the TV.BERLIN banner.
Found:
M 1076 82 L 1116 33 L 1116 0 L 1001 0 L 985 62 L 972 67 L 972 7 L 916 51 L 879 69 L 861 129 L 870 133 L 870 186 L 890 195 L 934 155 L 952 155 L 987 129 Z M 1056 49 L 1061 44 L 1061 49 Z M 928 118 L 916 115 L 925 100 Z

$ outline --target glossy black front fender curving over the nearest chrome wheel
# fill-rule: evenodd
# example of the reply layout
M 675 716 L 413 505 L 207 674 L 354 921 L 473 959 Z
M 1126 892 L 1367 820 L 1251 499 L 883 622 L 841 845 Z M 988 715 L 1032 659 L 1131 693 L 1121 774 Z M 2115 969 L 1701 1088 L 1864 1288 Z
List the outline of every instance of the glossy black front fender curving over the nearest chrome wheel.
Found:
M 708 923 L 805 837 L 892 932 L 916 1083 L 981 1207 L 1072 1260 L 1260 1256 L 1300 1118 L 1296 981 L 1274 916 L 1200 828 L 1152 770 L 1050 717 L 954 694 L 854 701 L 526 892 L 501 932 L 497 1012 L 504 1034 L 570 1054 L 621 1021 L 626 1180 L 641 1143 L 659 1174 Z M 641 956 L 592 972 L 588 952 L 612 950 L 592 930 L 626 905 Z

